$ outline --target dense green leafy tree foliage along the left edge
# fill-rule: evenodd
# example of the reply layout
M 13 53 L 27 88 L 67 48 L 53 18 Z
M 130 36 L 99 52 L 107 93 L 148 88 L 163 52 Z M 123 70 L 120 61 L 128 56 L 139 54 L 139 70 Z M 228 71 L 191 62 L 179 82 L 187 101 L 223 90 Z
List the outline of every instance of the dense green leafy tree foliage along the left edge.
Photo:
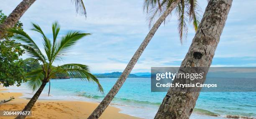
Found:
M 7 18 L 0 10 L 0 24 Z M 23 30 L 23 24 L 21 22 L 15 23 L 13 29 Z M 5 50 L 8 46 L 14 45 L 15 40 L 10 40 L 13 33 L 7 32 L 6 37 L 0 40 L 0 84 L 8 87 L 16 84 L 20 86 L 21 83 L 26 82 L 22 65 L 23 60 L 19 58 L 24 50 L 20 47 L 14 49 Z

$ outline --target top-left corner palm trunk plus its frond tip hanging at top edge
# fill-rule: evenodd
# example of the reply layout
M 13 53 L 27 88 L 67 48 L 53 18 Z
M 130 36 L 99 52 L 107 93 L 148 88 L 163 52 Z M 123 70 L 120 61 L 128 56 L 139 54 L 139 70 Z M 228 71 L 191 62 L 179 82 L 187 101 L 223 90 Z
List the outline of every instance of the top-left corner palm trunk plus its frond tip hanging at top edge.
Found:
M 10 13 L 10 15 L 5 19 L 5 21 L 0 25 L 0 40 L 5 36 L 5 30 L 12 28 L 20 17 L 28 10 L 28 8 L 36 0 L 23 0 L 20 4 Z M 76 12 L 80 15 L 86 16 L 84 2 L 82 0 L 71 0 L 76 6 Z

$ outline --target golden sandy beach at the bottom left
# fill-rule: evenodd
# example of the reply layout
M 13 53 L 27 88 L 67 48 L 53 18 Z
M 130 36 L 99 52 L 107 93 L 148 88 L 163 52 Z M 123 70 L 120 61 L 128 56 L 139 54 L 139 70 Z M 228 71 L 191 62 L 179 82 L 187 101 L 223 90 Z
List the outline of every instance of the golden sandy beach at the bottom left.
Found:
M 22 93 L 8 92 L 0 87 L 0 100 L 10 97 L 15 99 L 0 104 L 0 110 L 22 110 L 28 99 L 22 99 Z M 38 100 L 32 108 L 32 116 L 26 119 L 84 119 L 97 107 L 98 103 L 65 100 Z M 100 119 L 138 119 L 127 114 L 119 113 L 120 109 L 109 106 Z M 0 117 L 0 119 L 13 119 L 13 117 Z

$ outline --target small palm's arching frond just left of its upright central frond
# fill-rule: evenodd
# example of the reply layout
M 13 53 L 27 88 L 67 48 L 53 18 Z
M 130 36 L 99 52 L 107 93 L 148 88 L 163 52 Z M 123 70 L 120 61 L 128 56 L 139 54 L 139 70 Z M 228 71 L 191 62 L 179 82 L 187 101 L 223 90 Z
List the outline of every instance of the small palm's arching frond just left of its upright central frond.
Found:
M 49 38 L 46 37 L 46 35 L 44 34 L 43 30 L 41 29 L 41 27 L 37 24 L 32 23 L 33 28 L 31 30 L 39 32 L 41 34 L 41 36 L 43 37 L 43 41 L 44 41 L 44 51 L 48 57 L 48 59 L 51 59 L 51 41 L 49 40 Z

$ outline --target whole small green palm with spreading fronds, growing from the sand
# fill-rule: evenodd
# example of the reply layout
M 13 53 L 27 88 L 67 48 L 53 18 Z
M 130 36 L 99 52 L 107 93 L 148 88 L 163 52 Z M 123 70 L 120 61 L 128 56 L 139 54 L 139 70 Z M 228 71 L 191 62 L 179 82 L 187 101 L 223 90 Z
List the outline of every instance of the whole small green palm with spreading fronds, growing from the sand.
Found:
M 98 81 L 98 79 L 90 73 L 89 67 L 84 64 L 64 64 L 61 66 L 54 67 L 52 63 L 55 60 L 61 60 L 64 55 L 68 54 L 68 51 L 83 37 L 90 35 L 88 33 L 82 33 L 80 31 L 68 31 L 66 35 L 58 38 L 60 27 L 57 22 L 52 25 L 53 32 L 53 42 L 49 40 L 36 24 L 32 24 L 33 28 L 31 30 L 39 32 L 42 36 L 44 43 L 44 52 L 46 56 L 41 52 L 36 43 L 29 37 L 29 35 L 23 30 L 8 29 L 8 32 L 14 34 L 13 39 L 19 40 L 24 44 L 17 43 L 14 46 L 23 47 L 28 55 L 35 59 L 35 61 L 40 61 L 42 63 L 41 69 L 36 69 L 26 74 L 28 78 L 28 86 L 36 90 L 31 100 L 28 102 L 23 111 L 30 111 L 35 104 L 36 100 L 43 91 L 46 83 L 50 82 L 50 79 L 54 78 L 58 73 L 64 73 L 74 78 L 80 78 L 81 80 L 87 80 L 96 82 L 98 85 L 98 90 L 103 92 L 103 89 Z M 15 119 L 24 119 L 26 116 L 19 115 Z

